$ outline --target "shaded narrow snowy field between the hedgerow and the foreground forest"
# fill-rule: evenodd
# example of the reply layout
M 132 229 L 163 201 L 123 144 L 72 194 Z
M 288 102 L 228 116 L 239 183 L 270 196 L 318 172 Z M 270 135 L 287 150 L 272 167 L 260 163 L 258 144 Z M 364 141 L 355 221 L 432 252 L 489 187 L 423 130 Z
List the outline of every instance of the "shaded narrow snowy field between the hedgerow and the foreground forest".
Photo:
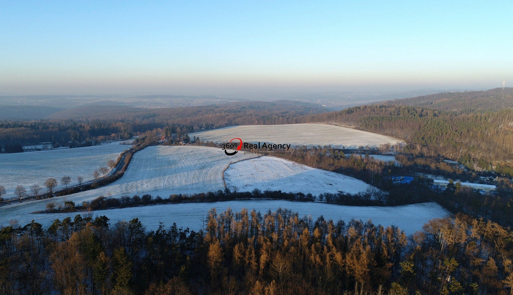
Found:
M 111 224 L 134 218 L 139 218 L 148 230 L 155 230 L 159 227 L 159 222 L 163 222 L 167 227 L 173 222 L 178 227 L 189 227 L 192 230 L 200 230 L 205 224 L 204 220 L 209 209 L 216 208 L 218 213 L 224 212 L 228 207 L 233 211 L 240 211 L 242 208 L 248 210 L 255 209 L 265 213 L 267 210 L 274 211 L 278 208 L 287 208 L 294 212 L 299 212 L 300 216 L 310 215 L 312 219 L 317 219 L 321 215 L 326 219 L 333 221 L 351 219 L 360 219 L 362 221 L 372 220 L 374 224 L 383 226 L 396 225 L 406 234 L 411 234 L 422 229 L 428 220 L 433 218 L 443 218 L 448 214 L 437 203 L 413 204 L 398 207 L 357 207 L 342 206 L 325 203 L 307 203 L 291 202 L 278 200 L 254 200 L 254 201 L 227 201 L 215 203 L 190 203 L 190 204 L 170 204 L 155 205 L 146 207 L 133 207 L 124 209 L 109 209 L 93 212 L 93 216 L 106 215 Z M 40 222 L 44 227 L 48 227 L 55 219 L 73 217 L 77 213 L 56 213 L 56 214 L 28 214 L 18 219 L 20 225 L 29 223 L 32 219 Z M 1 222 L 0 222 L 1 224 Z

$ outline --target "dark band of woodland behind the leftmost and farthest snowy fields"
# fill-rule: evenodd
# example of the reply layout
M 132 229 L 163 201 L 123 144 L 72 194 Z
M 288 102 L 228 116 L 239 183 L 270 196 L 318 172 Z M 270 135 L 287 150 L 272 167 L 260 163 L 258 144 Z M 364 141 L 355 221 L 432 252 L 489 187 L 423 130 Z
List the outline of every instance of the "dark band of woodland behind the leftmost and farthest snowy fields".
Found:
M 103 109 L 108 110 L 107 107 Z M 0 145 L 50 142 L 61 146 L 86 141 L 124 140 L 138 132 L 172 126 L 188 132 L 230 125 L 287 124 L 302 115 L 326 111 L 323 107 L 294 102 L 241 102 L 198 107 L 145 109 L 132 112 L 98 111 L 96 116 L 0 121 Z

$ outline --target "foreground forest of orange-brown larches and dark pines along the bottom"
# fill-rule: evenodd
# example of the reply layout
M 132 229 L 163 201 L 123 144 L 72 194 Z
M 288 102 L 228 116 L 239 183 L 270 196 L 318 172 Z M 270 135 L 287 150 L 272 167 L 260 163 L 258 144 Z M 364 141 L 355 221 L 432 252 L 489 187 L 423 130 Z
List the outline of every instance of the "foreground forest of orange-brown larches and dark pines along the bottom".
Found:
M 213 208 L 198 232 L 77 214 L 0 229 L 0 293 L 511 294 L 511 238 L 463 214 L 410 238 L 284 209 Z

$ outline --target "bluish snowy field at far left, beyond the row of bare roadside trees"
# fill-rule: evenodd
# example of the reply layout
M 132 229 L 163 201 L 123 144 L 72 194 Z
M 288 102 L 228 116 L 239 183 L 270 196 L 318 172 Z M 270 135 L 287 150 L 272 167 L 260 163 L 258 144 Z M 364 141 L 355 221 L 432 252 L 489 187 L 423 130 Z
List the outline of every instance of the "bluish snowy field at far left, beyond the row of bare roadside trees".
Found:
M 66 148 L 46 151 L 30 151 L 22 153 L 0 154 L 0 185 L 5 186 L 7 194 L 4 199 L 14 198 L 14 188 L 23 185 L 30 192 L 30 186 L 38 184 L 47 189 L 44 182 L 47 178 L 55 178 L 60 182 L 62 176 L 70 176 L 72 183 L 77 184 L 76 176 L 84 181 L 93 179 L 94 170 L 107 166 L 107 161 L 116 160 L 117 156 L 129 146 L 119 142 L 82 148 Z M 57 189 L 64 188 L 59 185 Z

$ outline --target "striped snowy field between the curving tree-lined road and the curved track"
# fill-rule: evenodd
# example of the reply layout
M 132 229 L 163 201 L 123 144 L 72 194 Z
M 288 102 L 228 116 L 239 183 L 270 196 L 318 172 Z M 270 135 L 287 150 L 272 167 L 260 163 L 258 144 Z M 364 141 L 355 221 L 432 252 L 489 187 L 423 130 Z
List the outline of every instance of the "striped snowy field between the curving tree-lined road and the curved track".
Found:
M 123 177 L 110 185 L 52 199 L 0 207 L 0 225 L 10 219 L 31 220 L 30 212 L 45 210 L 46 204 L 73 201 L 82 204 L 100 195 L 119 197 L 150 193 L 167 198 L 172 193 L 198 193 L 224 189 L 223 170 L 230 163 L 255 155 L 227 156 L 219 148 L 199 146 L 150 146 L 133 155 Z

